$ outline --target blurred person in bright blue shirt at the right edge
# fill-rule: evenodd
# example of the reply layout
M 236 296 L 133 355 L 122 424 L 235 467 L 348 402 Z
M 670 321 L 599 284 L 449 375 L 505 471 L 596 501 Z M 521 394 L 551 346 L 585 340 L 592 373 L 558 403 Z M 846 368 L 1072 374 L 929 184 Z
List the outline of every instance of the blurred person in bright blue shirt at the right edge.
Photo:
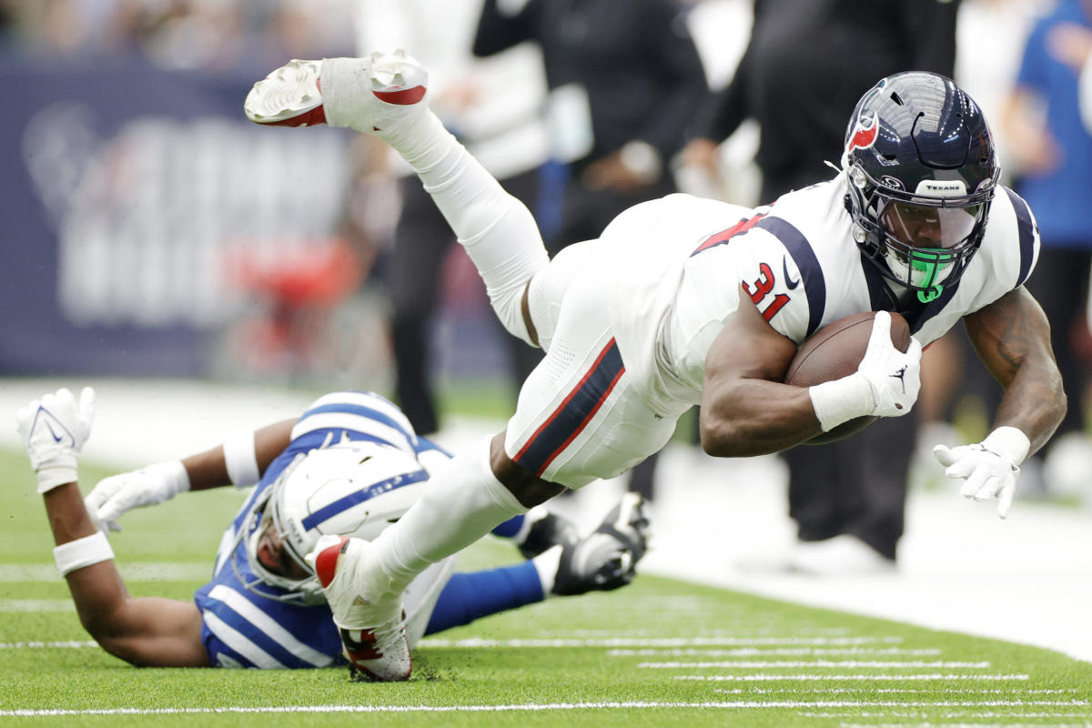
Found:
M 1081 119 L 1078 76 L 1090 48 L 1092 2 L 1059 0 L 1028 37 L 1001 121 L 1019 162 L 1016 189 L 1035 211 L 1043 241 L 1028 288 L 1051 321 L 1069 395 L 1069 410 L 1046 455 L 1047 488 L 1072 469 L 1051 464 L 1063 440 L 1076 439 L 1084 443 L 1082 450 L 1089 449 L 1085 410 L 1092 342 L 1084 302 L 1092 265 L 1092 133 Z M 1087 479 L 1087 469 L 1082 477 Z

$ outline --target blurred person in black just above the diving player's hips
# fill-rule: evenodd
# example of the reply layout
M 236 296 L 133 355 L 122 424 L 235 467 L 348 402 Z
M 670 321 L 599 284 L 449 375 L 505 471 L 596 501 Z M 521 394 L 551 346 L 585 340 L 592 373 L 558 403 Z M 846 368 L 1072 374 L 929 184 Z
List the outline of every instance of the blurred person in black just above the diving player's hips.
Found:
M 537 43 L 550 89 L 555 162 L 541 227 L 550 254 L 596 238 L 621 211 L 675 191 L 681 147 L 705 73 L 675 0 L 485 0 L 474 43 L 491 56 Z M 542 208 L 541 208 L 542 210 Z M 655 458 L 630 488 L 653 494 Z

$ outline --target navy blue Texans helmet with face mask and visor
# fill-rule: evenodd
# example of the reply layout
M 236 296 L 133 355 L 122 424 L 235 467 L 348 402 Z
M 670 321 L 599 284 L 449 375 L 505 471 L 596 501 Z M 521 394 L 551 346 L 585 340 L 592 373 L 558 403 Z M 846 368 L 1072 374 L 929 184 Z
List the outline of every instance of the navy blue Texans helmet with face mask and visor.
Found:
M 850 119 L 842 168 L 853 236 L 922 302 L 966 270 L 986 229 L 1000 167 L 986 119 L 951 79 L 882 79 Z

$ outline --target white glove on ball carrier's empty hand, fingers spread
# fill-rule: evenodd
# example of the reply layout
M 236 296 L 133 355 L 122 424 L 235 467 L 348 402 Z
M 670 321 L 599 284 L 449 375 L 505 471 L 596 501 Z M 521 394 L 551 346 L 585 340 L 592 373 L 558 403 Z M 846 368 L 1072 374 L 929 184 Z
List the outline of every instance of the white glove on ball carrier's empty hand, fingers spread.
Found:
M 1012 506 L 1020 477 L 1020 463 L 1028 456 L 1028 435 L 1014 427 L 999 427 L 982 442 L 973 445 L 933 449 L 945 475 L 964 478 L 960 488 L 964 498 L 976 501 L 997 499 L 997 515 L 1006 517 Z

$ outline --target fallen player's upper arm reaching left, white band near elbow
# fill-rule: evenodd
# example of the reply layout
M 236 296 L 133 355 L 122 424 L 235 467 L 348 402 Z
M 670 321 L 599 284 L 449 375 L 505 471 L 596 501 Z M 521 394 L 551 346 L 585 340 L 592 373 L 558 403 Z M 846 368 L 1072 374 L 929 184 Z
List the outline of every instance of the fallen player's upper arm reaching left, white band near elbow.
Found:
M 118 517 L 134 508 L 155 505 L 187 490 L 252 486 L 288 446 L 295 423 L 284 420 L 256 432 L 248 430 L 180 461 L 155 463 L 104 478 L 87 496 L 87 510 L 104 528 L 120 530 Z

